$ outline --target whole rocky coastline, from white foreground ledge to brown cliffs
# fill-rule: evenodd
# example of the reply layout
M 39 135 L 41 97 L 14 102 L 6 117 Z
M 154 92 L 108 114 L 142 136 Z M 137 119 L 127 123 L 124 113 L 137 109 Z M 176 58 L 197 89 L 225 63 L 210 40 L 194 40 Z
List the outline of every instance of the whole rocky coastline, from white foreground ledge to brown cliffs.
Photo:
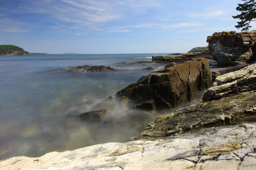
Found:
M 207 37 L 208 51 L 152 57 L 152 62 L 166 63 L 166 67 L 79 115 L 82 121 L 122 124 L 122 117 L 111 119 L 111 111 L 118 109 L 134 113 L 131 125 L 136 125 L 158 113 L 129 142 L 38 158 L 13 157 L 0 161 L 0 170 L 255 169 L 255 35 L 256 31 L 214 33 Z M 217 70 L 209 62 L 216 62 L 212 67 Z M 223 71 L 221 66 L 232 68 Z M 93 68 L 87 67 L 72 69 Z M 100 69 L 112 68 L 95 70 Z

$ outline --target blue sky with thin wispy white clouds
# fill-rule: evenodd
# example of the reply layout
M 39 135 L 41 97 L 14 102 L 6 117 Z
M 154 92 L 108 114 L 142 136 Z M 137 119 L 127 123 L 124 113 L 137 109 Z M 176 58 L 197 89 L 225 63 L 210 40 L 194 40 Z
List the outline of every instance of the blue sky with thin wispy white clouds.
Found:
M 239 31 L 241 0 L 0 0 L 0 44 L 41 53 L 170 53 Z M 253 23 L 253 28 L 255 28 Z

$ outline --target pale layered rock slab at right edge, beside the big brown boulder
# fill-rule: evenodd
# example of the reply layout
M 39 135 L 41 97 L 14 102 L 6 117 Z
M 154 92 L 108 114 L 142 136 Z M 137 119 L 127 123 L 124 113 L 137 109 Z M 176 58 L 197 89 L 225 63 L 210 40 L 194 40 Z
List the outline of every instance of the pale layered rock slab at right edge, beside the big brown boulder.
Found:
M 212 87 L 205 91 L 203 101 L 221 99 L 225 96 L 252 90 L 256 90 L 256 64 L 218 76 Z

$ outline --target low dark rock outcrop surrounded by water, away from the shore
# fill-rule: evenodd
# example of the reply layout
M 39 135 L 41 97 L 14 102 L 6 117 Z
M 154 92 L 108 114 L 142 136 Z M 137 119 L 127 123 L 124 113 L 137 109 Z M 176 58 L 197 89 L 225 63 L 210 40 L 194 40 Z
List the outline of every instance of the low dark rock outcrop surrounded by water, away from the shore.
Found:
M 109 66 L 105 67 L 104 65 L 99 65 L 99 66 L 83 65 L 83 66 L 69 68 L 68 70 L 72 72 L 84 72 L 84 71 L 114 71 L 115 69 Z

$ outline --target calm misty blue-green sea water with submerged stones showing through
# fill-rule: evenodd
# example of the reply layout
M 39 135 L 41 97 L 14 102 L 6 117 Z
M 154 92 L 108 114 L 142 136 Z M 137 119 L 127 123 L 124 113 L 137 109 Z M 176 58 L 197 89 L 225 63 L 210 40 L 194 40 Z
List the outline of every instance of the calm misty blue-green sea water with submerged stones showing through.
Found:
M 153 55 L 167 54 L 0 56 L 0 160 L 128 141 L 144 127 L 99 127 L 67 114 L 90 111 L 151 72 L 143 68 L 163 68 L 156 63 L 131 64 L 151 61 Z M 117 71 L 59 71 L 79 65 L 105 65 Z

